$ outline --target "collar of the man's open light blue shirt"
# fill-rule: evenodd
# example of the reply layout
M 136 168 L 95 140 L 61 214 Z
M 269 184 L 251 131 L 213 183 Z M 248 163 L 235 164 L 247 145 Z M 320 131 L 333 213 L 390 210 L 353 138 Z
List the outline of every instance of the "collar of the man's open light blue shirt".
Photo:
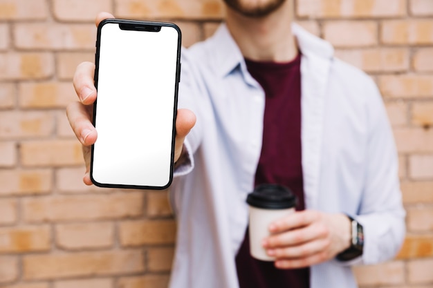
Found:
M 307 32 L 296 23 L 292 24 L 292 31 L 297 38 L 297 43 L 302 55 L 315 55 L 326 59 L 333 57 L 333 47 L 328 41 L 320 39 Z M 237 68 L 245 72 L 246 64 L 243 55 L 236 42 L 230 35 L 225 23 L 221 23 L 215 34 L 209 39 L 208 45 L 214 51 L 214 61 L 216 70 L 220 77 L 225 77 Z

